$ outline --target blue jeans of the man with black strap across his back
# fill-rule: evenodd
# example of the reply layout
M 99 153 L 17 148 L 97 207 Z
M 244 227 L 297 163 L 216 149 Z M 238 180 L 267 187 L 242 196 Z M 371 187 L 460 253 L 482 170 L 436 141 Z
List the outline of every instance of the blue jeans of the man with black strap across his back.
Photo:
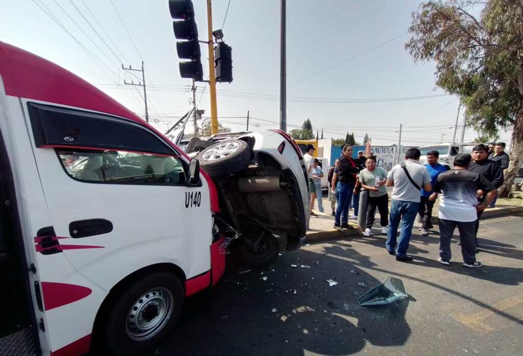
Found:
M 400 239 L 397 243 L 396 256 L 405 257 L 407 255 L 408 243 L 411 241 L 412 226 L 418 213 L 419 203 L 412 201 L 392 200 L 389 231 L 387 232 L 387 251 L 394 251 L 396 247 L 397 228 L 401 220 Z

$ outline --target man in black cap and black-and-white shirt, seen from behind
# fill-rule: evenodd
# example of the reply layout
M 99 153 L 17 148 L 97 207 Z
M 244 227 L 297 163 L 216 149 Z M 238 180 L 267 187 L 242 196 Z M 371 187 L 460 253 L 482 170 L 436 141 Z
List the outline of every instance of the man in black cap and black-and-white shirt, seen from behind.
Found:
M 434 191 L 440 193 L 439 202 L 439 257 L 443 265 L 450 265 L 450 240 L 458 227 L 463 266 L 481 267 L 476 261 L 475 226 L 477 212 L 483 211 L 496 196 L 494 185 L 482 174 L 469 171 L 472 157 L 460 153 L 454 158 L 454 169 L 441 173 Z M 486 193 L 486 201 L 477 203 L 477 191 Z

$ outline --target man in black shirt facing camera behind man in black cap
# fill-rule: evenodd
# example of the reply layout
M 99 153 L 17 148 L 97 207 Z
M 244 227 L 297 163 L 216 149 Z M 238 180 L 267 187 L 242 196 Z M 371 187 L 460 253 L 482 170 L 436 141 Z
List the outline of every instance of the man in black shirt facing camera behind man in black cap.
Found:
M 499 167 L 497 162 L 487 159 L 488 148 L 485 145 L 477 145 L 472 149 L 472 163 L 470 164 L 469 171 L 474 173 L 483 174 L 487 181 L 494 185 L 494 188 L 499 188 L 503 184 L 503 170 Z M 477 191 L 478 203 L 483 203 L 485 200 L 485 194 L 481 189 Z M 480 217 L 483 211 L 477 212 L 475 234 L 477 236 L 477 229 L 480 227 Z M 476 237 L 477 244 L 477 237 Z

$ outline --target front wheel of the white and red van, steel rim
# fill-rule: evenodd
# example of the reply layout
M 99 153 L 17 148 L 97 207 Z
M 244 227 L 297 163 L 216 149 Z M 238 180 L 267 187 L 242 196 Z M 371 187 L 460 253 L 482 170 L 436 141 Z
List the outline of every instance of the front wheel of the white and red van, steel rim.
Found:
M 169 272 L 156 272 L 127 286 L 109 308 L 104 330 L 107 347 L 116 355 L 150 350 L 172 331 L 184 297 L 180 280 Z

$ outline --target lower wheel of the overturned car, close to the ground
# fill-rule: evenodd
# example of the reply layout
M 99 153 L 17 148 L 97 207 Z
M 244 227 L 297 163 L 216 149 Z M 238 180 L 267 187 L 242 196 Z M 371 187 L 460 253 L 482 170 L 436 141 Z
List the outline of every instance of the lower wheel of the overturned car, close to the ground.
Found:
M 238 250 L 240 258 L 246 265 L 261 268 L 276 261 L 280 247 L 278 240 L 272 234 L 254 228 L 240 240 Z

